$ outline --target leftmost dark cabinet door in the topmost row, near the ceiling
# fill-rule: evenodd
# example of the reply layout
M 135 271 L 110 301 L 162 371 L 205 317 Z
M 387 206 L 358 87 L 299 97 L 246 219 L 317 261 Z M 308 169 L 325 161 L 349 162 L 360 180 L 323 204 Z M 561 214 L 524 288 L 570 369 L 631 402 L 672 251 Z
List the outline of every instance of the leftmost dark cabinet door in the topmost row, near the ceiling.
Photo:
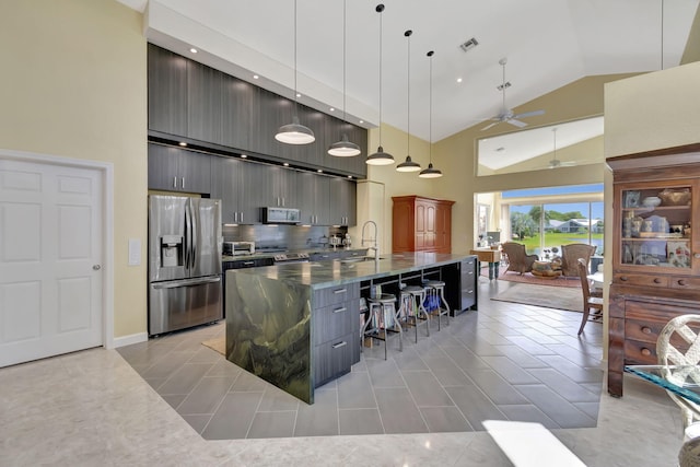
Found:
M 187 62 L 177 54 L 148 46 L 149 130 L 187 135 Z

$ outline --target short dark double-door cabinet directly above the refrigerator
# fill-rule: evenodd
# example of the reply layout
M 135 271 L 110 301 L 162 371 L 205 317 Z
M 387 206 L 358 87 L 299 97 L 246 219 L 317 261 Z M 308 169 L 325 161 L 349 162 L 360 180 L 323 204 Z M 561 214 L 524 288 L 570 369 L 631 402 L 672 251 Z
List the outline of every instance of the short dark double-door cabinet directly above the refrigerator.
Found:
M 149 143 L 149 188 L 208 194 L 211 189 L 211 156 Z

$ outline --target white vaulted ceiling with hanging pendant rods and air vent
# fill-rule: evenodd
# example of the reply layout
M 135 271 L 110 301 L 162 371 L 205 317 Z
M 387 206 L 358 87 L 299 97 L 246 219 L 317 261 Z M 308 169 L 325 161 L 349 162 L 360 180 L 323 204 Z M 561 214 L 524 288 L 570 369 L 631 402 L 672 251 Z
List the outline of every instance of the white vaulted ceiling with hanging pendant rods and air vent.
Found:
M 296 78 L 300 103 L 324 112 L 332 105 L 342 117 L 343 1 L 298 0 L 296 73 L 290 0 L 119 1 L 145 11 L 150 42 L 292 98 Z M 699 1 L 384 0 L 382 15 L 380 1 L 347 1 L 348 120 L 377 125 L 381 91 L 382 121 L 441 140 L 501 112 L 502 58 L 510 108 L 586 75 L 677 66 Z M 410 70 L 406 30 L 413 31 Z M 471 37 L 479 45 L 462 51 Z M 200 52 L 191 55 L 191 46 Z

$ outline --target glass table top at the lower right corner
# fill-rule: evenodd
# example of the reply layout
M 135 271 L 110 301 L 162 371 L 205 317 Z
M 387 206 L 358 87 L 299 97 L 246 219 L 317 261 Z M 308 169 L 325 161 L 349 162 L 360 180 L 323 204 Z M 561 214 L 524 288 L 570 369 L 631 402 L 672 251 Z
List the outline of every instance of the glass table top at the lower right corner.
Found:
M 700 365 L 626 365 L 625 371 L 700 404 Z

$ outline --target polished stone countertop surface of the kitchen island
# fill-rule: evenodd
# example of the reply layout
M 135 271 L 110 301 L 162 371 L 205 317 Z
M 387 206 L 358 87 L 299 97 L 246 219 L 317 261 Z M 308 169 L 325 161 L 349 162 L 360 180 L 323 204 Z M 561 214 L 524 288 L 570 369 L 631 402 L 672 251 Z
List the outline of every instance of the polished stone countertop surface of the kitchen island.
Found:
M 381 255 L 378 261 L 334 260 L 281 264 L 261 268 L 235 269 L 228 273 L 250 275 L 259 278 L 291 281 L 312 289 L 325 289 L 362 280 L 378 279 L 388 276 L 405 275 L 425 268 L 440 267 L 462 261 L 470 255 L 441 253 L 401 253 Z

